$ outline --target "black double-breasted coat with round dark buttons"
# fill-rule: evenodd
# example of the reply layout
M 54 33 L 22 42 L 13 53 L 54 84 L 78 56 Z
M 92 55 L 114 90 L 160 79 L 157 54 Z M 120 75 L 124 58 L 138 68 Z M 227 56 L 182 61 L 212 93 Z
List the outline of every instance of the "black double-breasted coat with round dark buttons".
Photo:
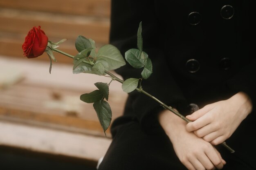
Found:
M 239 91 L 249 95 L 254 109 L 255 9 L 255 0 L 112 0 L 110 42 L 123 55 L 137 48 L 142 21 L 144 51 L 153 62 L 153 74 L 143 80 L 143 89 L 184 115 L 191 103 L 202 108 Z M 141 77 L 141 70 L 129 64 L 116 72 L 124 79 Z M 112 126 L 114 141 L 118 129 L 129 121 L 137 121 L 146 135 L 159 135 L 157 113 L 161 109 L 144 94 L 130 93 L 124 116 Z M 256 160 L 255 118 L 253 110 L 227 140 L 236 157 L 240 155 L 247 164 Z M 115 150 L 115 144 L 111 147 Z

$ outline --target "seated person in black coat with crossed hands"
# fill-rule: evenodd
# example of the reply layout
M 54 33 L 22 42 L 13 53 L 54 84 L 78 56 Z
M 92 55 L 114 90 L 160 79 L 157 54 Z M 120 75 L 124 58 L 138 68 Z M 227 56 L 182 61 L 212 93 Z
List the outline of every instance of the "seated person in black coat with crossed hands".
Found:
M 255 3 L 112 0 L 111 44 L 123 55 L 136 48 L 142 21 L 144 51 L 153 63 L 143 89 L 193 122 L 129 93 L 99 170 L 256 169 Z M 141 77 L 129 64 L 116 72 Z M 223 141 L 236 152 L 219 145 Z

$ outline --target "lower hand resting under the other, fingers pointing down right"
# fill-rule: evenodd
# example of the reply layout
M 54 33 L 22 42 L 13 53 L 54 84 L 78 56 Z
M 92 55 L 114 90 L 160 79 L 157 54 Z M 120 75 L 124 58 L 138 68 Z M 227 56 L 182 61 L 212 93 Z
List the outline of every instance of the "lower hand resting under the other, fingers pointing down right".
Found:
M 173 144 L 177 157 L 189 170 L 222 169 L 226 161 L 207 141 L 187 132 L 186 122 L 168 110 L 158 115 L 159 123 Z

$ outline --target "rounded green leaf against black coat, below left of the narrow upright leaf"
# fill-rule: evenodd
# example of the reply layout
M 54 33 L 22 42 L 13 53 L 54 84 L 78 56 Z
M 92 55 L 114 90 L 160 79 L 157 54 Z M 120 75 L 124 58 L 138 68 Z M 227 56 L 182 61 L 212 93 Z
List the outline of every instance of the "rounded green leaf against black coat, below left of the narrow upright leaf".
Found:
M 134 68 L 144 67 L 144 63 L 140 59 L 141 52 L 138 49 L 129 49 L 125 52 L 126 61 Z

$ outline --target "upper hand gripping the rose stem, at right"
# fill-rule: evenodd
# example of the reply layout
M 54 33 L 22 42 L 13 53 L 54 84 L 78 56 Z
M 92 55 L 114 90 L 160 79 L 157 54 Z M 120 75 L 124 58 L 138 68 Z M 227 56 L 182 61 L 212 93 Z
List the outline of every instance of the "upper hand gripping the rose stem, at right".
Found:
M 186 118 L 193 122 L 188 123 L 186 129 L 218 145 L 234 133 L 251 111 L 251 100 L 245 93 L 239 92 L 227 100 L 209 104 L 188 115 Z

